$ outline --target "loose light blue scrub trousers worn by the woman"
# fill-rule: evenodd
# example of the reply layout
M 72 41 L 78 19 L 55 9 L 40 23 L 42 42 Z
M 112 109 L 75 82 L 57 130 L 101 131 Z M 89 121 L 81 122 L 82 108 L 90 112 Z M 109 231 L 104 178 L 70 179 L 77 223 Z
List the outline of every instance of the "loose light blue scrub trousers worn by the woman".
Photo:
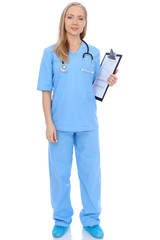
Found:
M 55 224 L 67 227 L 72 222 L 70 175 L 73 146 L 80 180 L 83 226 L 98 225 L 101 212 L 101 169 L 98 128 L 91 131 L 57 130 L 58 142 L 49 142 L 51 204 Z

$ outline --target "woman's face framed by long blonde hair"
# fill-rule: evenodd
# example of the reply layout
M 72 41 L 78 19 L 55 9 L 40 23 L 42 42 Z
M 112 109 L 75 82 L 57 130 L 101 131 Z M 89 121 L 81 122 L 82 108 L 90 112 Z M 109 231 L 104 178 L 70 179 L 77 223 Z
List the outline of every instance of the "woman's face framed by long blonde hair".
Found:
M 70 35 L 80 35 L 86 24 L 85 13 L 83 8 L 71 6 L 68 8 L 65 17 L 65 29 Z

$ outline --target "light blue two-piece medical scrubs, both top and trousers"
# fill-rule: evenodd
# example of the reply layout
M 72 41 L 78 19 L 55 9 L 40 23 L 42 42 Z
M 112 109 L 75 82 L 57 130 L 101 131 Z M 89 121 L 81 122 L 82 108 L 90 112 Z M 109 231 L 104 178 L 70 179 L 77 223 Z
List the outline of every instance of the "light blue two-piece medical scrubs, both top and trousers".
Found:
M 37 89 L 53 91 L 51 116 L 57 131 L 57 143 L 48 142 L 49 174 L 53 219 L 59 226 L 69 226 L 73 208 L 70 201 L 70 175 L 73 146 L 75 148 L 83 209 L 80 219 L 84 226 L 100 223 L 101 171 L 97 106 L 92 83 L 100 67 L 100 52 L 89 45 L 92 61 L 85 55 L 84 42 L 74 54 L 69 50 L 66 72 L 53 52 L 54 45 L 44 49 Z M 94 73 L 92 73 L 92 71 Z

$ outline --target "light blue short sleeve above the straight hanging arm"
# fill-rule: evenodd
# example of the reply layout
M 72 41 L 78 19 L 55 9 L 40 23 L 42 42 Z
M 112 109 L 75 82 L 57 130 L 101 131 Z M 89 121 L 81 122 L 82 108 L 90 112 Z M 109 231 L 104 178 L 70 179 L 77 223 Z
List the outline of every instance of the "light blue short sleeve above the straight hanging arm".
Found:
M 53 88 L 53 53 L 45 48 L 40 64 L 37 90 L 52 91 Z

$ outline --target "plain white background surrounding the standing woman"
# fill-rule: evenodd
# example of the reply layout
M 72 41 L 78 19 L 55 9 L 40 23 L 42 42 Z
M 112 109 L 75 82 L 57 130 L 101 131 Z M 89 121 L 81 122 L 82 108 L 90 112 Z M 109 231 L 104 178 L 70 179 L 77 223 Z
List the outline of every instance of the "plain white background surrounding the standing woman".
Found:
M 41 92 L 42 53 L 57 40 L 70 1 L 3 1 L 0 6 L 0 239 L 52 239 L 48 142 Z M 85 40 L 123 55 L 118 83 L 97 101 L 102 169 L 101 226 L 108 240 L 160 239 L 158 0 L 87 0 Z M 67 240 L 82 231 L 73 158 L 74 216 Z

